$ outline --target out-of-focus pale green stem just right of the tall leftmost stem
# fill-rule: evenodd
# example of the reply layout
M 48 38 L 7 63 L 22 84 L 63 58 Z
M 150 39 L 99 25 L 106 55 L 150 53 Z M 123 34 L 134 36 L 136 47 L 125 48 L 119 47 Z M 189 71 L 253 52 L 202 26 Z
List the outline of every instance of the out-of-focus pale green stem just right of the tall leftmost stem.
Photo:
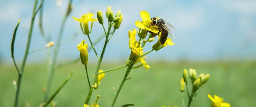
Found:
M 45 96 L 44 96 L 44 102 L 48 99 L 48 94 L 49 94 L 50 89 L 51 89 L 53 74 L 54 74 L 54 70 L 55 70 L 55 64 L 56 64 L 56 61 L 57 61 L 57 55 L 58 55 L 58 51 L 59 51 L 59 47 L 60 47 L 60 41 L 61 41 L 61 38 L 62 38 L 62 33 L 63 33 L 63 30 L 64 30 L 64 26 L 66 24 L 66 20 L 67 20 L 67 16 L 65 16 L 62 20 L 62 23 L 60 25 L 61 27 L 60 27 L 59 35 L 58 35 L 58 38 L 57 38 L 56 47 L 53 50 L 51 71 L 49 73 L 49 78 L 48 78 L 48 83 L 47 83 L 47 90 L 46 90 L 46 93 L 45 93 Z

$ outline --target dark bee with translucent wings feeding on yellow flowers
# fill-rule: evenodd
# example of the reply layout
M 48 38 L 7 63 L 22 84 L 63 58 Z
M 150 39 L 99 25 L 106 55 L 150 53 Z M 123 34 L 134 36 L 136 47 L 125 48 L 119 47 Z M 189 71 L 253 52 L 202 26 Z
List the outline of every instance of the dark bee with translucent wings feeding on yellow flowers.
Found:
M 158 33 L 153 33 L 151 31 L 149 31 L 149 32 L 152 34 L 153 37 L 155 37 L 156 35 L 159 35 L 159 33 L 162 32 L 161 36 L 160 36 L 160 43 L 162 45 L 165 43 L 165 41 L 166 41 L 166 39 L 168 37 L 168 34 L 172 38 L 174 38 L 173 33 L 171 31 L 171 28 L 172 29 L 175 29 L 175 28 L 171 24 L 165 22 L 164 19 L 162 19 L 162 18 L 155 18 L 155 17 L 153 17 L 153 18 L 151 18 L 151 20 L 152 20 L 152 22 L 150 23 L 149 26 L 152 26 L 152 25 L 158 26 L 158 28 L 156 28 L 156 29 L 158 29 L 159 32 Z

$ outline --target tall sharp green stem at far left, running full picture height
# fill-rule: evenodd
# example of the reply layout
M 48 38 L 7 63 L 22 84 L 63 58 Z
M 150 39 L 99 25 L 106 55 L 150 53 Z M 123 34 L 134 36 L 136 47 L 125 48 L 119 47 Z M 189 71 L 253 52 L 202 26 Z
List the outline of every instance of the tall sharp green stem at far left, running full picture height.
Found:
M 36 16 L 36 4 L 37 4 L 37 2 L 38 2 L 38 0 L 35 0 L 33 13 L 32 13 L 32 18 L 31 18 L 31 23 L 30 23 L 30 29 L 29 29 L 29 33 L 28 33 L 28 41 L 27 41 L 26 51 L 25 51 L 23 61 L 22 61 L 22 64 L 21 64 L 20 74 L 18 76 L 18 84 L 17 84 L 16 96 L 15 96 L 15 107 L 18 107 L 19 95 L 20 95 L 20 85 L 21 85 L 21 80 L 22 80 L 22 74 L 24 72 L 25 64 L 26 64 L 26 61 L 27 61 L 27 58 L 28 58 L 28 51 L 29 51 L 29 47 L 30 47 L 30 42 L 31 42 L 31 37 L 32 37 L 32 32 L 33 32 L 33 27 L 34 27 L 34 21 L 35 21 L 35 16 Z M 41 5 L 42 5 L 42 3 L 41 3 Z M 40 6 L 39 6 L 38 9 L 40 9 Z

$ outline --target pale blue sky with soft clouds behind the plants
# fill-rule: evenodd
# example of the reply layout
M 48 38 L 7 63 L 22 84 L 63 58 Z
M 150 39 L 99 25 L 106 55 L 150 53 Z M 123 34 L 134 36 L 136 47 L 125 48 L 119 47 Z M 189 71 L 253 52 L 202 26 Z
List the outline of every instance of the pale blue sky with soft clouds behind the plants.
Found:
M 68 0 L 62 0 L 61 6 L 57 0 L 45 0 L 43 25 L 47 35 L 56 40 L 60 23 L 66 11 Z M 21 61 L 27 42 L 30 18 L 34 1 L 31 0 L 1 0 L 0 1 L 0 58 L 5 62 L 11 60 L 11 39 L 18 18 L 20 27 L 15 42 L 15 58 Z M 251 60 L 256 59 L 256 1 L 253 0 L 129 0 L 129 1 L 86 1 L 74 0 L 74 10 L 67 20 L 62 40 L 67 40 L 80 30 L 79 23 L 72 16 L 80 17 L 87 12 L 100 10 L 105 15 L 106 8 L 112 7 L 114 13 L 121 10 L 124 16 L 120 28 L 108 44 L 104 59 L 106 61 L 126 61 L 129 57 L 128 30 L 136 28 L 134 22 L 141 20 L 140 11 L 148 11 L 151 17 L 164 18 L 175 26 L 173 30 L 174 46 L 168 46 L 160 51 L 150 53 L 148 60 L 165 61 L 214 61 L 214 60 Z M 95 16 L 94 18 L 96 18 Z M 44 47 L 36 17 L 32 45 L 30 50 Z M 105 18 L 107 22 L 107 18 Z M 106 23 L 105 23 L 106 24 Z M 23 29 L 21 26 L 26 26 Z M 106 25 L 107 26 L 107 25 Z M 91 38 L 96 40 L 103 34 L 103 29 L 94 23 Z M 79 56 L 76 45 L 87 39 L 82 32 L 78 37 L 62 44 L 58 60 L 71 60 Z M 138 37 L 137 37 L 138 39 Z M 156 38 L 157 40 L 157 38 Z M 96 46 L 98 53 L 102 50 L 102 40 Z M 149 51 L 155 43 L 148 43 L 144 51 Z M 29 55 L 29 62 L 45 61 L 47 50 Z M 90 60 L 96 57 L 91 51 Z

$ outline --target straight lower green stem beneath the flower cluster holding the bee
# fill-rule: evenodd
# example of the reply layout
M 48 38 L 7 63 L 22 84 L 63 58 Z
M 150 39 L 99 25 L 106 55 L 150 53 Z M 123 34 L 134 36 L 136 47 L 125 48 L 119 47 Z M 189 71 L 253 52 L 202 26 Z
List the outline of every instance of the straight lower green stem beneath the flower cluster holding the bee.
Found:
M 118 87 L 118 90 L 117 90 L 117 92 L 116 92 L 116 95 L 115 95 L 115 97 L 114 97 L 114 100 L 113 100 L 113 102 L 112 102 L 111 107 L 114 107 L 114 105 L 115 105 L 115 103 L 116 103 L 116 99 L 117 99 L 117 97 L 118 97 L 118 95 L 119 95 L 119 93 L 120 93 L 120 91 L 121 91 L 121 89 L 122 89 L 122 87 L 123 87 L 123 85 L 124 85 L 124 82 L 126 81 L 127 76 L 129 75 L 129 73 L 130 73 L 130 71 L 131 71 L 131 69 L 132 69 L 133 64 L 134 64 L 133 62 L 132 62 L 132 63 L 131 63 L 131 62 L 129 63 L 128 68 L 127 68 L 127 70 L 126 70 L 126 73 L 125 73 L 125 75 L 124 75 L 124 78 L 123 78 L 123 80 L 122 80 L 120 86 Z

